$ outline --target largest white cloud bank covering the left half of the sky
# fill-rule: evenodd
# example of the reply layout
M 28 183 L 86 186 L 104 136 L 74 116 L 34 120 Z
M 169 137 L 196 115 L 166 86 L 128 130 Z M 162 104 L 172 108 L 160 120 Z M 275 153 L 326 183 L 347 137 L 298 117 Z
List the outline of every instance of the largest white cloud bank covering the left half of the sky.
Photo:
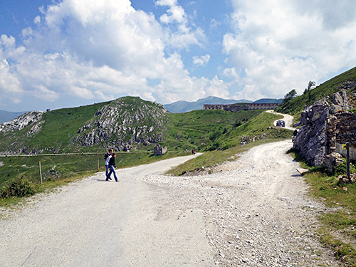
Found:
M 178 23 L 172 32 L 152 14 L 135 11 L 128 0 L 82 2 L 63 0 L 43 7 L 41 17 L 34 19 L 37 27 L 22 31 L 24 46 L 17 46 L 12 36 L 1 36 L 0 59 L 11 63 L 0 64 L 4 69 L 0 86 L 18 99 L 32 95 L 49 102 L 64 96 L 109 100 L 140 95 L 169 103 L 197 100 L 209 92 L 226 95 L 219 79 L 192 77 L 178 52 L 165 52 L 167 47 L 187 48 L 204 38 L 200 28 L 187 26 L 177 1 L 160 1 L 172 9 L 168 12 L 175 18 L 172 23 Z M 209 55 L 199 60 L 206 64 Z M 149 79 L 161 82 L 149 86 Z

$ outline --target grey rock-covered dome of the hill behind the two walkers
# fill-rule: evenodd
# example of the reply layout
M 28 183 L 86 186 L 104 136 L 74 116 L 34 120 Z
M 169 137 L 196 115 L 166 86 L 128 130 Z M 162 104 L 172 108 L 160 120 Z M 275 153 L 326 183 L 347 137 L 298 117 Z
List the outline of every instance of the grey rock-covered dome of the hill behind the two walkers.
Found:
M 78 129 L 73 142 L 90 147 L 103 144 L 115 150 L 131 150 L 137 144 L 163 140 L 167 110 L 162 105 L 140 98 L 119 98 L 95 113 Z

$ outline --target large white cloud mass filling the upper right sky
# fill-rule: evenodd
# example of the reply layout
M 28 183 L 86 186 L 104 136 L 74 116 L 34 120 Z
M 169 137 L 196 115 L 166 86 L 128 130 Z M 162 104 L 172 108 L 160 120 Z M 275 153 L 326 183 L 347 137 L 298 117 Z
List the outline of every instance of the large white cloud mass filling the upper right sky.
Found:
M 355 1 L 233 4 L 234 32 L 224 36 L 223 51 L 242 77 L 239 97 L 278 98 L 292 88 L 302 93 L 309 80 L 355 65 Z

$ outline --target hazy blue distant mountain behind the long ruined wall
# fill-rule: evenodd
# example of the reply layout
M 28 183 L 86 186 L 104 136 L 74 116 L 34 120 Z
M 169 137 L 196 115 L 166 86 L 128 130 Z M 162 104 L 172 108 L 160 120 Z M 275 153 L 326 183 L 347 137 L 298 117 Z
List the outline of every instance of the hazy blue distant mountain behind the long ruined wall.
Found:
M 188 101 L 178 101 L 172 104 L 164 105 L 164 108 L 172 113 L 183 113 L 189 112 L 192 110 L 202 110 L 204 108 L 204 104 L 210 105 L 228 105 L 235 103 L 252 103 L 250 100 L 234 100 L 234 99 L 224 99 L 224 98 L 216 98 L 215 96 L 209 96 L 207 98 L 199 99 L 195 102 Z

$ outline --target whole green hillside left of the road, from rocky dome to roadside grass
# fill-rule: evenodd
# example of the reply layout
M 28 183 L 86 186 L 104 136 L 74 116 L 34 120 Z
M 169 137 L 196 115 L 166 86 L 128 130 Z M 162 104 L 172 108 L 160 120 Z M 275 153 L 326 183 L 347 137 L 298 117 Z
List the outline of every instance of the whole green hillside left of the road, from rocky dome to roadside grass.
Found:
M 0 187 L 7 188 L 9 182 L 24 178 L 38 184 L 39 162 L 43 181 L 50 184 L 95 172 L 98 159 L 103 170 L 103 155 L 108 147 L 119 151 L 116 162 L 122 168 L 189 155 L 192 149 L 205 152 L 239 147 L 241 135 L 266 132 L 266 139 L 290 137 L 286 130 L 268 130 L 278 116 L 264 110 L 168 113 L 162 105 L 132 97 L 52 110 L 41 116 L 22 130 L 0 132 L 2 154 L 37 154 L 0 157 Z M 39 130 L 31 132 L 36 125 Z M 124 147 L 120 147 L 122 142 L 126 144 Z M 152 157 L 157 143 L 167 146 L 168 152 Z M 224 161 L 224 157 L 219 160 Z

